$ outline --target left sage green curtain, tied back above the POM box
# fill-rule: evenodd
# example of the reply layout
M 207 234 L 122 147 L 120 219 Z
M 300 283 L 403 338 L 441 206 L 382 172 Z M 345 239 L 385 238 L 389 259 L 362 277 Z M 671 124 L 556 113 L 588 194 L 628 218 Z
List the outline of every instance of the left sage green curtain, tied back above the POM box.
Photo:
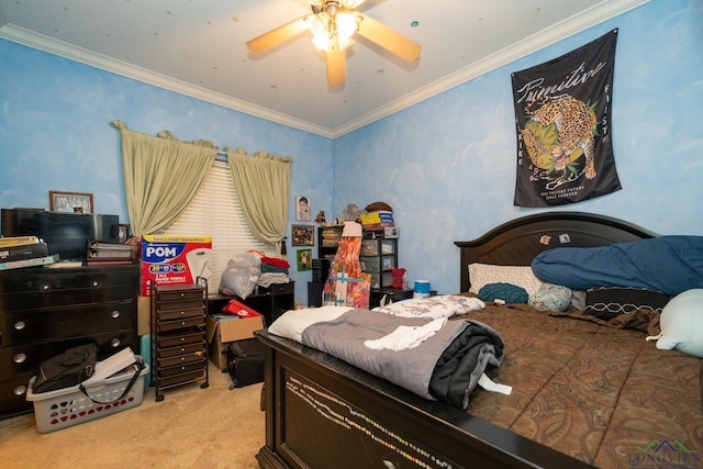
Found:
M 181 142 L 169 131 L 157 136 L 120 131 L 122 170 L 130 224 L 135 235 L 156 233 L 174 223 L 198 192 L 216 156 L 212 142 Z

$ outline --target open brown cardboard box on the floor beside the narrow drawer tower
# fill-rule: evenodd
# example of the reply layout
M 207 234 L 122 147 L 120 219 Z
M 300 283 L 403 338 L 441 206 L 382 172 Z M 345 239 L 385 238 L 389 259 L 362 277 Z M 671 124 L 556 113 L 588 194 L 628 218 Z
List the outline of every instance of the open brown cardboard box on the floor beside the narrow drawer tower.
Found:
M 226 350 L 231 342 L 254 337 L 264 328 L 264 316 L 239 317 L 233 314 L 209 315 L 205 324 L 208 355 L 221 370 L 227 369 Z

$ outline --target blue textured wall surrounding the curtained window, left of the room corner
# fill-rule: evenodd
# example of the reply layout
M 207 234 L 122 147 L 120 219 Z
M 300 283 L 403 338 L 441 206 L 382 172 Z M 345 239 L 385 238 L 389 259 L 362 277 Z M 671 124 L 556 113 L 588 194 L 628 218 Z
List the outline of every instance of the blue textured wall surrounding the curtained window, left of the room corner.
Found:
M 48 210 L 48 191 L 93 194 L 96 213 L 127 223 L 120 134 L 113 120 L 146 134 L 163 130 L 185 141 L 210 139 L 293 158 L 294 196 L 331 212 L 332 143 L 183 94 L 124 78 L 31 47 L 0 40 L 0 206 Z M 316 213 L 316 212 L 315 212 Z M 290 244 L 290 241 L 289 241 Z M 289 261 L 295 265 L 289 248 Z M 298 272 L 297 298 L 306 302 L 311 272 Z

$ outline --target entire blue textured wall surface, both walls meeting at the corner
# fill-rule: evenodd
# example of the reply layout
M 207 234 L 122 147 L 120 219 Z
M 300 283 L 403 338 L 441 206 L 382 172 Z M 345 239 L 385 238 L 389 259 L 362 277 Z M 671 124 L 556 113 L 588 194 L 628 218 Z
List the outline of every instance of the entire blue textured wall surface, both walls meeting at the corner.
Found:
M 458 249 L 506 220 L 515 133 L 510 74 L 620 29 L 613 141 L 623 190 L 560 210 L 622 217 L 662 234 L 703 234 L 703 2 L 654 0 L 334 142 L 0 40 L 0 206 L 48 209 L 48 190 L 91 192 L 126 221 L 119 119 L 138 132 L 294 159 L 293 196 L 313 215 L 384 201 L 412 280 L 459 288 Z M 294 249 L 289 259 L 294 264 Z M 311 272 L 297 272 L 306 302 Z

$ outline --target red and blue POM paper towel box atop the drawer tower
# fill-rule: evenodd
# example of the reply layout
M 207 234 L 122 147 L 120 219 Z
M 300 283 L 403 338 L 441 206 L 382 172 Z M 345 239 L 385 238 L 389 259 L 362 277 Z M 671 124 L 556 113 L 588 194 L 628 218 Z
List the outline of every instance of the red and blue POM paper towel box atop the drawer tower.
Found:
M 142 237 L 142 295 L 149 286 L 196 283 L 210 275 L 212 238 L 209 236 L 144 235 Z

